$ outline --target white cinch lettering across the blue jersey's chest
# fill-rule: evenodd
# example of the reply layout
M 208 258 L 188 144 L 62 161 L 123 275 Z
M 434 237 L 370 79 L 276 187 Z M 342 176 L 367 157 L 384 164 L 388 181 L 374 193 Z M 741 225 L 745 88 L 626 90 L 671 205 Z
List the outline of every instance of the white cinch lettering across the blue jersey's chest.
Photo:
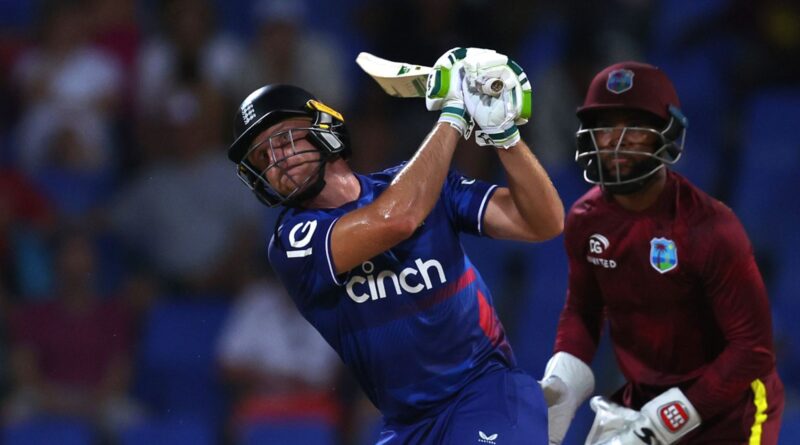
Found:
M 365 261 L 361 263 L 364 275 L 352 275 L 347 280 L 347 295 L 356 303 L 365 303 L 386 298 L 387 292 L 393 292 L 394 295 L 418 294 L 433 289 L 434 280 L 440 285 L 447 282 L 442 263 L 436 260 L 423 261 L 417 258 L 414 266 L 416 267 L 406 267 L 399 273 L 391 269 L 376 273 L 375 264 Z

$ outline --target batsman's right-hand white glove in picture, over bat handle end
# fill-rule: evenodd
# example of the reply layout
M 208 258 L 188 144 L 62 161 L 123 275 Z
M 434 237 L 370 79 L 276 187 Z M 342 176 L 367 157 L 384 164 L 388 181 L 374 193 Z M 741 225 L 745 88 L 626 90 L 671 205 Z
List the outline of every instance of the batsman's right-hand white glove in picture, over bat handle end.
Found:
M 531 116 L 531 85 L 522 68 L 499 53 L 481 53 L 464 59 L 464 103 L 480 130 L 478 145 L 510 148 L 520 140 L 518 125 Z M 484 85 L 499 79 L 499 95 L 487 94 Z

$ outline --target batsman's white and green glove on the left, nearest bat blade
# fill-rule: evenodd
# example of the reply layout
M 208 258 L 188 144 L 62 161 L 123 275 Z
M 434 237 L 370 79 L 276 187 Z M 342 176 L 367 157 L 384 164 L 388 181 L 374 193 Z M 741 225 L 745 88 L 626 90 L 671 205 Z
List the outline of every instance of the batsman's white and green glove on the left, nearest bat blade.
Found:
M 455 127 L 465 139 L 472 133 L 472 119 L 464 106 L 461 91 L 464 78 L 463 60 L 480 53 L 494 53 L 483 48 L 453 48 L 433 65 L 428 75 L 425 91 L 425 106 L 430 111 L 442 110 L 439 122 Z

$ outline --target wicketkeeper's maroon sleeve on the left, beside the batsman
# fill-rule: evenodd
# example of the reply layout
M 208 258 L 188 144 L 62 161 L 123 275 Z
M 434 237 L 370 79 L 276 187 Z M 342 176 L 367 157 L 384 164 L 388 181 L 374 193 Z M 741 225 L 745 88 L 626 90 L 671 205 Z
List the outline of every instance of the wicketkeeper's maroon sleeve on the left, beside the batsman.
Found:
M 569 263 L 567 298 L 556 330 L 554 352 L 564 351 L 591 363 L 603 327 L 603 300 L 600 287 L 584 256 L 584 240 L 579 218 L 567 215 L 564 245 Z

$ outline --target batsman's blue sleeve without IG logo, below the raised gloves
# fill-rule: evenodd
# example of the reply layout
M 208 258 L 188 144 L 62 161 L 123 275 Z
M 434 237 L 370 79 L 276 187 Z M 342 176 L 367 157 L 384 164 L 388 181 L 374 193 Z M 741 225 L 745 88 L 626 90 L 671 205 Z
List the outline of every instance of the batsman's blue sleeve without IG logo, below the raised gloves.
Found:
M 494 184 L 465 177 L 456 171 L 448 173 L 442 198 L 458 231 L 484 235 L 483 218 L 495 190 L 497 186 Z

